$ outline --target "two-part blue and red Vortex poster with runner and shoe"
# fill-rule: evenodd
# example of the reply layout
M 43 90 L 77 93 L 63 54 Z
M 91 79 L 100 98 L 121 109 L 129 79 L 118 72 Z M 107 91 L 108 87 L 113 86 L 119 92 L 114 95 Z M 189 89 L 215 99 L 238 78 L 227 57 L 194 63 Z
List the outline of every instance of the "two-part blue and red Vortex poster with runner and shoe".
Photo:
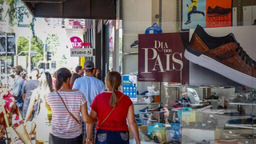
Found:
M 232 26 L 232 0 L 182 0 L 182 30 Z

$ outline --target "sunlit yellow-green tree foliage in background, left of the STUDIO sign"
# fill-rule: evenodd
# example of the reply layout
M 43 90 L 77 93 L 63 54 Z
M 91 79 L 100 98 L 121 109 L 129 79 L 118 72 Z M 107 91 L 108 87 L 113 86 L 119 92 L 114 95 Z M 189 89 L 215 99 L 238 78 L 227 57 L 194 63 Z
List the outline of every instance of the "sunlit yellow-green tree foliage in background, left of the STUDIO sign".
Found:
M 19 37 L 17 46 L 18 46 L 18 53 L 20 53 L 22 51 L 28 51 L 29 50 L 29 40 L 24 37 Z M 38 63 L 43 60 L 43 43 L 40 38 L 38 38 L 38 37 L 31 38 L 31 50 L 38 50 L 37 55 L 31 55 L 32 62 Z M 28 56 L 28 53 L 22 53 L 20 55 Z

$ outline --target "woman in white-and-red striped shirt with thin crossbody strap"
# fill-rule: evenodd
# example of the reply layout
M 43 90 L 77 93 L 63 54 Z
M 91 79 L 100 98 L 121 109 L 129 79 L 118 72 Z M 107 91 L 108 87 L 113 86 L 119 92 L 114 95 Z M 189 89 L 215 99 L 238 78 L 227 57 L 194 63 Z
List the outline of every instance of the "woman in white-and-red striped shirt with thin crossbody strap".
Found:
M 46 96 L 46 103 L 52 112 L 50 143 L 82 143 L 80 112 L 83 122 L 97 122 L 97 119 L 88 114 L 85 96 L 79 91 L 70 90 L 70 78 L 70 70 L 59 69 L 55 92 Z

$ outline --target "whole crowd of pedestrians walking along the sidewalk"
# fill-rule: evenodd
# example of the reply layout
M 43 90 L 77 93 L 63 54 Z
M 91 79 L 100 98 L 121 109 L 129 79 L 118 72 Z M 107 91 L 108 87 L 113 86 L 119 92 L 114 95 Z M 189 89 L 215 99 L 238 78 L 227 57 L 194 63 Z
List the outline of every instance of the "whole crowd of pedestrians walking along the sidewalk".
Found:
M 130 98 L 118 90 L 122 77 L 118 72 L 98 79 L 99 70 L 86 61 L 76 73 L 61 68 L 54 74 L 32 70 L 30 80 L 22 66 L 15 67 L 15 81 L 10 93 L 18 106 L 22 142 L 30 143 L 129 143 L 129 130 L 139 144 L 138 126 Z M 0 123 L 1 126 L 1 123 Z M 1 134 L 0 134 L 1 136 Z M 1 140 L 1 138 L 0 138 Z

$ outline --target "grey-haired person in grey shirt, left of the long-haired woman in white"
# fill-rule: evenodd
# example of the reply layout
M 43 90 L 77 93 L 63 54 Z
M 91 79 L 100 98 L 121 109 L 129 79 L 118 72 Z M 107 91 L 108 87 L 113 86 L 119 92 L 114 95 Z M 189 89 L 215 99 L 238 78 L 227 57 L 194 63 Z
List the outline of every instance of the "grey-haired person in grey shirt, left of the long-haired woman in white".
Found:
M 31 80 L 24 83 L 22 88 L 22 97 L 24 100 L 23 105 L 23 118 L 26 118 L 26 111 L 30 105 L 30 98 L 32 95 L 33 90 L 35 90 L 39 86 L 39 70 L 34 69 L 31 72 Z M 33 118 L 33 117 L 31 117 Z

